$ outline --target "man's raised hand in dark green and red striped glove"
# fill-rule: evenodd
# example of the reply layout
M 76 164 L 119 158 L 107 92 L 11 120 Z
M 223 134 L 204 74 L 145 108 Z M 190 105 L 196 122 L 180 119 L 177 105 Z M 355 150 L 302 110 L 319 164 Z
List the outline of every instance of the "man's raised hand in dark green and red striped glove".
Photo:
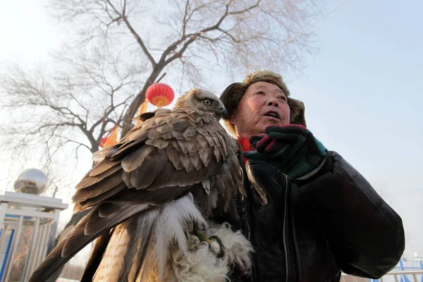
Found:
M 297 179 L 318 168 L 327 149 L 302 125 L 270 125 L 265 135 L 255 135 L 250 143 L 257 151 L 244 152 L 247 159 L 266 161 L 278 171 Z

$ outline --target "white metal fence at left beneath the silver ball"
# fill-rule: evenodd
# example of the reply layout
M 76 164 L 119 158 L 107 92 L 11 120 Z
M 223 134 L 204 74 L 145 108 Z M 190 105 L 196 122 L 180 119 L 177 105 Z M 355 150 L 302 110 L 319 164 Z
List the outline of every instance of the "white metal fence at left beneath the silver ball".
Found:
M 25 193 L 0 195 L 0 281 L 27 281 L 54 244 L 62 200 Z

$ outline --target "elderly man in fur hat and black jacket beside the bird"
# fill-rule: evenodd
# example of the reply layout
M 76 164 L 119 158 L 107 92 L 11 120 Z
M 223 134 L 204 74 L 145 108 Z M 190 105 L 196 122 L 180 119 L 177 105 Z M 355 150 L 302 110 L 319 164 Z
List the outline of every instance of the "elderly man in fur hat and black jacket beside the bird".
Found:
M 305 107 L 280 75 L 258 71 L 223 92 L 228 130 L 238 138 L 246 197 L 235 202 L 254 247 L 250 277 L 235 281 L 379 278 L 404 250 L 400 216 L 338 153 L 305 127 Z M 336 133 L 334 133 L 336 134 Z

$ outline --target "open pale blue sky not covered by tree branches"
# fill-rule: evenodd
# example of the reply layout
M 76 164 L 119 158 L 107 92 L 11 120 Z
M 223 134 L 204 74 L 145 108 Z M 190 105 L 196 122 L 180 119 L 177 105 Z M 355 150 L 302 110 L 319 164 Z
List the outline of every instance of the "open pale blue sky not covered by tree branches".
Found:
M 342 2 L 328 0 L 325 11 Z M 0 61 L 42 61 L 58 46 L 63 34 L 54 30 L 43 3 L 3 4 Z M 410 258 L 423 255 L 422 14 L 423 1 L 350 0 L 314 27 L 319 52 L 307 58 L 303 73 L 287 75 L 292 96 L 305 102 L 309 129 L 403 217 Z

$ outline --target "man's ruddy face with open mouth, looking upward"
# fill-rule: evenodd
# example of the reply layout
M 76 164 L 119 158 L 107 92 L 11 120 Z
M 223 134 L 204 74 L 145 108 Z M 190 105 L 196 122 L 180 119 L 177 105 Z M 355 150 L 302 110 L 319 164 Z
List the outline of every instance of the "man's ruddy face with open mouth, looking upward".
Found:
M 284 125 L 289 121 L 286 94 L 276 85 L 261 81 L 247 88 L 231 117 L 238 136 L 245 138 L 264 133 L 269 125 Z

